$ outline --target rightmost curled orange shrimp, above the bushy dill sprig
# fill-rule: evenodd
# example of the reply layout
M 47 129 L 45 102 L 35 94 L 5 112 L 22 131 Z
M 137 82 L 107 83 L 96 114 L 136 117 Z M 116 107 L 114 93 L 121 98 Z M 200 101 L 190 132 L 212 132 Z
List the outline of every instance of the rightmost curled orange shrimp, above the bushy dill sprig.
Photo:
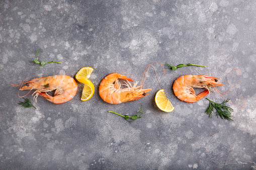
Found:
M 205 97 L 212 86 L 223 86 L 218 82 L 219 78 L 206 75 L 185 75 L 175 80 L 173 89 L 174 94 L 182 101 L 194 103 Z M 196 88 L 206 88 L 203 92 L 196 95 Z

